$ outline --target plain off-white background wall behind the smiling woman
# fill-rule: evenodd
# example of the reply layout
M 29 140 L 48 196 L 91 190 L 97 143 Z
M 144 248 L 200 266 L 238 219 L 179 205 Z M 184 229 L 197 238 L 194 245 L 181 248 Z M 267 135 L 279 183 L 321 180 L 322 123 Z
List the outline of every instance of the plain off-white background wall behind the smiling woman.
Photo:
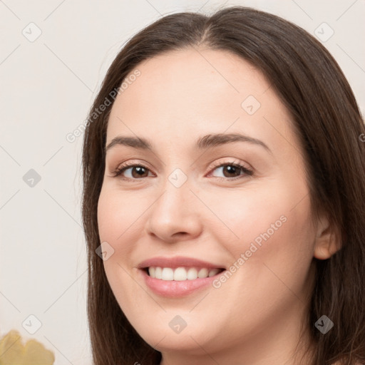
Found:
M 167 13 L 210 14 L 253 6 L 311 34 L 334 31 L 324 45 L 364 110 L 364 0 L 304 1 L 0 1 L 0 336 L 18 329 L 41 341 L 56 365 L 91 364 L 86 322 L 86 247 L 81 229 L 81 144 L 66 140 L 88 108 L 120 46 Z M 28 37 L 41 36 L 35 41 Z M 329 35 L 327 26 L 319 28 Z M 322 37 L 324 37 L 322 36 Z M 41 176 L 34 187 L 23 176 Z M 29 182 L 31 183 L 31 182 Z M 36 320 L 42 326 L 36 329 Z

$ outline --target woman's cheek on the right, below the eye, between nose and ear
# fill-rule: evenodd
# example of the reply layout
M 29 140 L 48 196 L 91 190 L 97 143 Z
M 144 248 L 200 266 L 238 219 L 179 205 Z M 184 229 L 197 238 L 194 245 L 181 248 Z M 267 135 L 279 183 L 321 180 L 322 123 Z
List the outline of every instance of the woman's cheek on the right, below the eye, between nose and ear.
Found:
M 306 266 L 312 259 L 314 231 L 305 184 L 271 180 L 241 192 L 226 193 L 225 199 L 210 199 L 209 206 L 225 224 L 217 242 L 235 259 L 247 252 L 250 261 L 290 262 Z M 219 233 L 218 233 L 219 234 Z M 276 263 L 275 263 L 276 265 Z

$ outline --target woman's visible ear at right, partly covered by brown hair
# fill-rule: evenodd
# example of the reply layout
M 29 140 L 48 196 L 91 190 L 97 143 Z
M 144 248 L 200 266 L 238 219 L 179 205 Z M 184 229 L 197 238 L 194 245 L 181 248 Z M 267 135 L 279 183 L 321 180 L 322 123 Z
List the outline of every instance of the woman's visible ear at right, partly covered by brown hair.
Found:
M 314 257 L 329 259 L 340 248 L 339 232 L 329 224 L 327 217 L 318 220 L 316 238 L 314 240 Z

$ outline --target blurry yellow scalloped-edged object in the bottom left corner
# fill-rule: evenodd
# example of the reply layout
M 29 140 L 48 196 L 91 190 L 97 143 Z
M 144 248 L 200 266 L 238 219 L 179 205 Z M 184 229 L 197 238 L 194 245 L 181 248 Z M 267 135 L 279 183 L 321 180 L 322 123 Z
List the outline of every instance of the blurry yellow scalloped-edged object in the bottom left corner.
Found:
M 0 339 L 0 365 L 53 365 L 54 354 L 30 339 L 22 344 L 19 331 L 12 329 Z

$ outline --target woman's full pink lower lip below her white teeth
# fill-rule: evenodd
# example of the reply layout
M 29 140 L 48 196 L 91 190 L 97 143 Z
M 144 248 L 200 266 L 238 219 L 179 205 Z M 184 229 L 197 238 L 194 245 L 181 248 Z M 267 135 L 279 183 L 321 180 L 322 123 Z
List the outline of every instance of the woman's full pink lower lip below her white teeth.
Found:
M 147 286 L 156 294 L 163 297 L 184 297 L 185 295 L 197 292 L 199 289 L 212 285 L 212 282 L 219 277 L 222 272 L 212 277 L 199 278 L 194 280 L 162 280 L 150 277 L 145 270 L 140 270 Z

